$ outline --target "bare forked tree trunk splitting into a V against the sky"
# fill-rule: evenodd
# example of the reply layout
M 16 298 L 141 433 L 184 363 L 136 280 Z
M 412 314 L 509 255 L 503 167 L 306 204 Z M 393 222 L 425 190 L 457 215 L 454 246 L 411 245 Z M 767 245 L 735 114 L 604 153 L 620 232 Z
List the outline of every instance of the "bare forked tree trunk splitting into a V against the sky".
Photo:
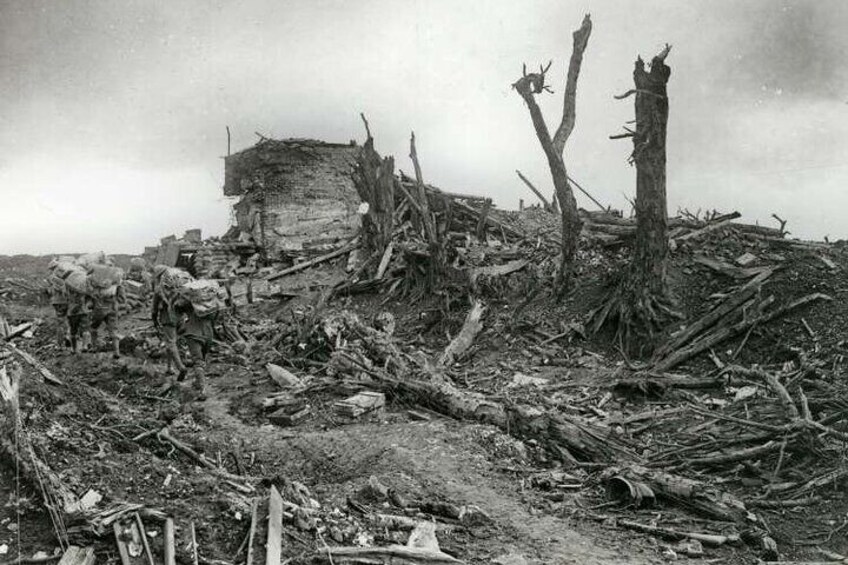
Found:
M 592 20 L 587 14 L 583 18 L 580 29 L 575 31 L 573 35 L 574 46 L 568 64 L 568 75 L 566 76 L 562 121 L 553 138 L 548 131 L 545 118 L 542 116 L 542 111 L 539 109 L 535 98 L 535 95 L 542 91 L 553 92 L 550 87 L 545 85 L 545 74 L 550 69 L 551 64 L 548 63 L 547 67 L 540 68 L 538 73 L 530 74 L 527 73 L 525 65 L 523 76 L 512 85 L 530 110 L 533 128 L 536 130 L 536 136 L 539 138 L 539 143 L 541 143 L 548 159 L 548 167 L 551 170 L 551 177 L 556 189 L 556 198 L 559 201 L 560 214 L 562 215 L 562 261 L 555 283 L 556 292 L 559 295 L 562 295 L 571 284 L 574 256 L 577 253 L 577 240 L 581 228 L 580 218 L 577 215 L 577 201 L 574 199 L 574 193 L 568 183 L 563 151 L 565 150 L 565 142 L 568 141 L 571 132 L 574 130 L 577 78 L 580 75 L 580 65 L 583 63 L 583 52 L 586 50 L 591 33 Z

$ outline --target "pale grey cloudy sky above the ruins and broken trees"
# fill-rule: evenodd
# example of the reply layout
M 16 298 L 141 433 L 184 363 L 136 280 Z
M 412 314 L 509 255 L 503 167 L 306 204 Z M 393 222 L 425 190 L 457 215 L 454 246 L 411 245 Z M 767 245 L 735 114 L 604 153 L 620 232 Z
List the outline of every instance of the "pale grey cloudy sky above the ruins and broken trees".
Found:
M 674 49 L 669 207 L 737 209 L 798 236 L 848 238 L 848 2 L 842 0 L 0 0 L 0 253 L 138 252 L 222 233 L 234 150 L 274 137 L 362 139 L 424 175 L 491 195 L 551 191 L 510 84 L 553 59 L 561 111 L 571 32 L 594 29 L 569 172 L 626 207 L 637 54 Z M 578 195 L 584 207 L 590 203 Z

